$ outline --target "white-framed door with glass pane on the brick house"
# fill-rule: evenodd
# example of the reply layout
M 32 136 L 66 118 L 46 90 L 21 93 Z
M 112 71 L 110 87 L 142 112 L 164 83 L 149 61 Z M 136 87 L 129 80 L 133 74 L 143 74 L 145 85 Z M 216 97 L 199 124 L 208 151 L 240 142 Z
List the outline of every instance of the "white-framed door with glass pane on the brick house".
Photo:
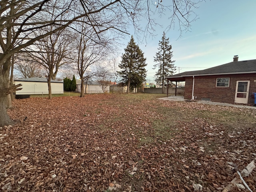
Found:
M 248 103 L 250 81 L 236 81 L 235 103 Z

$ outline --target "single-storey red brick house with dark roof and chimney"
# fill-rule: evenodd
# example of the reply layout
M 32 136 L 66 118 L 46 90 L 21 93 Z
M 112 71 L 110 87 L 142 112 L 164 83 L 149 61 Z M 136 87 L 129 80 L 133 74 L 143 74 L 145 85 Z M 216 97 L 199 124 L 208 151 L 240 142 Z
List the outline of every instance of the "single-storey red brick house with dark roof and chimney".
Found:
M 253 105 L 256 92 L 256 60 L 238 61 L 205 70 L 166 77 L 169 82 L 185 81 L 184 99 Z

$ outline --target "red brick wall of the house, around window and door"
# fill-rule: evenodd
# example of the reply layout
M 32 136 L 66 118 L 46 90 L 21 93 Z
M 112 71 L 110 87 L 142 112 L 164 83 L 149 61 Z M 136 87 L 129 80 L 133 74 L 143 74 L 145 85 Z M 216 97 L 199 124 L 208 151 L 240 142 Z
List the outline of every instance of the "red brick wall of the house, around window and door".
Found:
M 230 78 L 229 87 L 216 87 L 216 78 Z M 256 74 L 224 75 L 224 76 L 195 76 L 194 97 L 196 100 L 210 98 L 212 102 L 234 103 L 237 80 L 250 80 L 248 104 L 254 104 L 252 93 L 256 92 Z M 184 99 L 192 99 L 193 78 L 186 78 Z

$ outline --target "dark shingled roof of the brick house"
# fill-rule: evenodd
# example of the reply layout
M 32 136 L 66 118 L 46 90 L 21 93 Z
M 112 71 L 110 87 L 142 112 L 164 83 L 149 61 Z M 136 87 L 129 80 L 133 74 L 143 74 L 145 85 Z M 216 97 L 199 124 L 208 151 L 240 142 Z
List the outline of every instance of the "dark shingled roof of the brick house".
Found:
M 166 78 L 178 78 L 184 76 L 204 76 L 216 74 L 243 74 L 243 73 L 256 73 L 256 59 L 248 61 L 233 61 L 216 67 L 198 70 L 187 71 L 175 74 Z

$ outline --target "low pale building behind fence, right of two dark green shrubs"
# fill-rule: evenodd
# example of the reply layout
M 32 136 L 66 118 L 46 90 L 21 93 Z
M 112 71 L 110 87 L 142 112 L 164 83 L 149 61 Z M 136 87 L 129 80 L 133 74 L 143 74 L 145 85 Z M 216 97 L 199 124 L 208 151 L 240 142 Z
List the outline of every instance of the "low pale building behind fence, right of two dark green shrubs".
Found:
M 86 83 L 86 82 L 84 82 Z M 85 89 L 85 84 L 84 84 Z M 81 92 L 81 80 L 76 80 L 76 92 Z M 107 92 L 109 92 L 109 86 L 107 87 Z M 88 81 L 86 85 L 86 93 L 103 93 L 101 85 L 96 81 Z

